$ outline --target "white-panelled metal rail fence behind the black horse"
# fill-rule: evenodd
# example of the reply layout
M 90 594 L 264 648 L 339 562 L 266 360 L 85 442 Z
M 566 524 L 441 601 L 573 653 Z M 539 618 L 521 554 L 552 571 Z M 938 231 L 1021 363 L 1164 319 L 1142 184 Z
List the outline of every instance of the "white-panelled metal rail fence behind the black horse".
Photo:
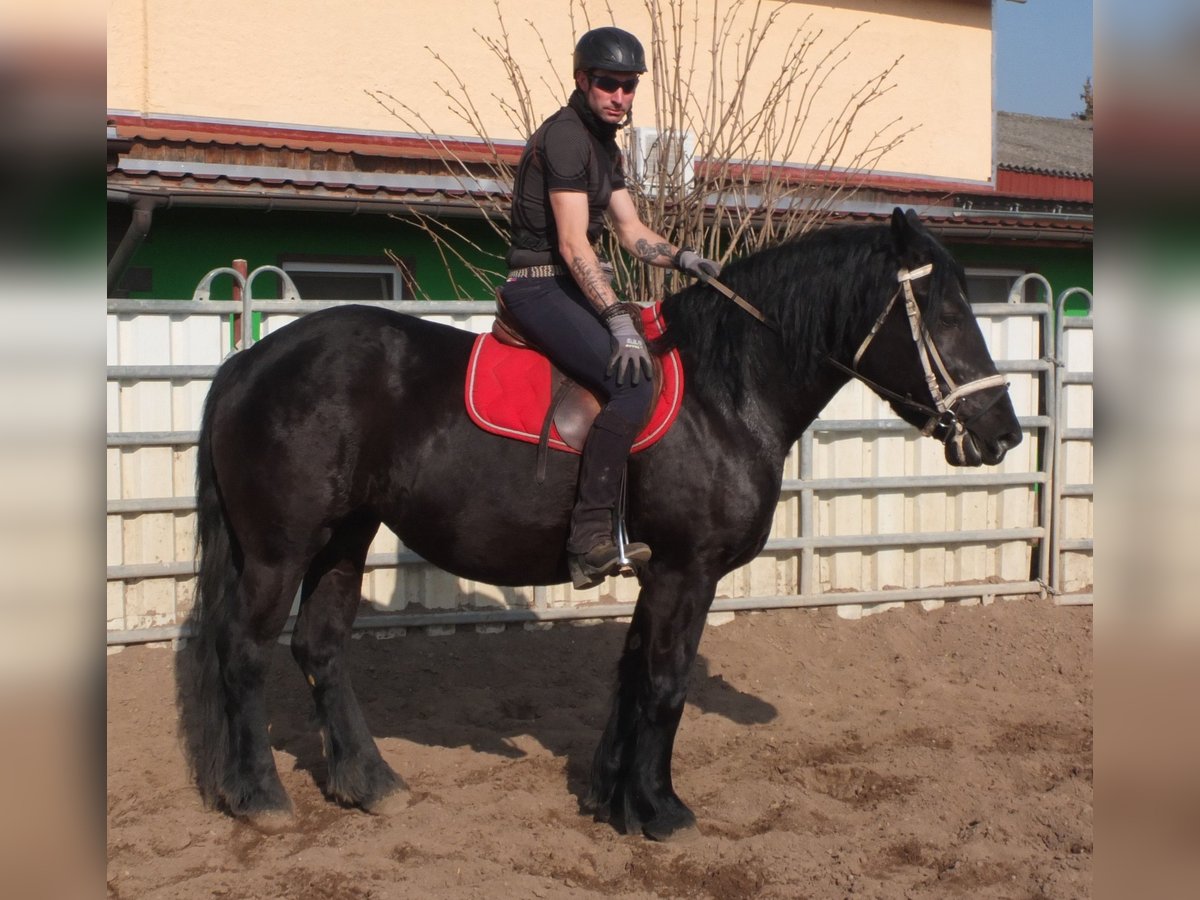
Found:
M 110 644 L 182 635 L 194 602 L 197 428 L 234 318 L 259 318 L 265 335 L 330 305 L 109 300 Z M 476 332 L 493 313 L 474 301 L 378 305 Z M 976 313 L 1010 380 L 1022 444 L 994 469 L 953 469 L 936 442 L 848 384 L 793 448 L 770 539 L 721 580 L 714 612 L 836 606 L 858 616 L 907 601 L 1045 592 L 1090 602 L 1091 317 L 1056 317 L 1049 301 L 983 304 Z M 470 582 L 426 564 L 382 528 L 364 581 L 371 608 L 356 625 L 623 617 L 636 590 L 622 578 L 582 592 Z

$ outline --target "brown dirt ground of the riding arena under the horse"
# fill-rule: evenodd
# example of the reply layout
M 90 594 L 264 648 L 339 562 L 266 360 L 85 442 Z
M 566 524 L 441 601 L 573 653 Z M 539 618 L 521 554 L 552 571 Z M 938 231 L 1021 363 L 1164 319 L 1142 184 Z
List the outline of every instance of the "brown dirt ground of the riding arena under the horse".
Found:
M 409 632 L 352 646 L 413 803 L 325 800 L 286 647 L 269 690 L 295 824 L 202 808 L 174 654 L 108 658 L 108 896 L 1087 898 L 1092 613 L 1040 600 L 739 614 L 709 628 L 676 748 L 702 836 L 658 845 L 580 812 L 623 625 Z

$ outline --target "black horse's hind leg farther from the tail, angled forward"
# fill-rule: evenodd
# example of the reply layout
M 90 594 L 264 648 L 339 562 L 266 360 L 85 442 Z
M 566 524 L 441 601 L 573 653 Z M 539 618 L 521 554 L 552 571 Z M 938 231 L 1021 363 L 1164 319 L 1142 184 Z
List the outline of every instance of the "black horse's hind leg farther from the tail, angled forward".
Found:
M 377 521 L 341 526 L 304 580 L 292 655 L 312 686 L 329 766 L 328 792 L 371 812 L 407 805 L 407 785 L 379 755 L 350 686 L 347 638 Z

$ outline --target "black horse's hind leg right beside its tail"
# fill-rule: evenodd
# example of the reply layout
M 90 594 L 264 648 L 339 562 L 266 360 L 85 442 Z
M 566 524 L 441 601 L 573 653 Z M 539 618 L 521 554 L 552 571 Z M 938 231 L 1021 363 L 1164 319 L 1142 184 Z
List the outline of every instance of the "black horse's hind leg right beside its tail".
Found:
M 233 815 L 264 824 L 292 811 L 271 755 L 264 683 L 299 580 L 299 566 L 247 560 L 233 614 L 216 642 L 229 728 L 220 796 Z

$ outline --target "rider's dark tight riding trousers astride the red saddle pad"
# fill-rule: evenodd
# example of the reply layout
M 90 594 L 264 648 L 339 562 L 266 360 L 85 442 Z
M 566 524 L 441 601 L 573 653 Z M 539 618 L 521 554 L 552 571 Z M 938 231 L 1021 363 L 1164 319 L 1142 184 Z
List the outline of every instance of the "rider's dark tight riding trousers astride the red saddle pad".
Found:
M 565 374 L 605 401 L 583 446 L 566 542 L 568 552 L 586 553 L 612 540 L 620 476 L 637 430 L 654 401 L 654 388 L 646 378 L 630 384 L 628 376 L 618 385 L 616 373 L 608 373 L 612 337 L 569 275 L 515 278 L 505 282 L 502 293 L 521 334 Z

